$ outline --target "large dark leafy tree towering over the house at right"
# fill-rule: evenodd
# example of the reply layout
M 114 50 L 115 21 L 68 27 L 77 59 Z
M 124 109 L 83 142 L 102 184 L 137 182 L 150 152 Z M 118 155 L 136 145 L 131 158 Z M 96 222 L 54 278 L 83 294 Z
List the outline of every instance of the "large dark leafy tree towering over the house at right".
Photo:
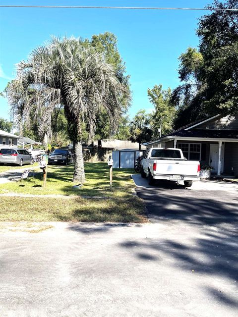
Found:
M 238 14 L 221 10 L 237 5 L 237 0 L 214 0 L 208 6 L 212 13 L 199 20 L 198 50 L 189 48 L 179 57 L 184 83 L 172 96 L 179 107 L 176 128 L 208 115 L 238 111 Z

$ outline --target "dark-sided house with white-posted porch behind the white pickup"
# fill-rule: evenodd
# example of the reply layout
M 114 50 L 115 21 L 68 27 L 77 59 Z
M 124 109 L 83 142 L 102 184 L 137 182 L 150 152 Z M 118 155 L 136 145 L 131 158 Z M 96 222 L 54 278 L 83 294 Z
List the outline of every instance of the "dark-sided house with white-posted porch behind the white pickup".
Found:
M 211 165 L 217 175 L 238 175 L 238 115 L 199 120 L 144 145 L 179 148 L 187 159 Z

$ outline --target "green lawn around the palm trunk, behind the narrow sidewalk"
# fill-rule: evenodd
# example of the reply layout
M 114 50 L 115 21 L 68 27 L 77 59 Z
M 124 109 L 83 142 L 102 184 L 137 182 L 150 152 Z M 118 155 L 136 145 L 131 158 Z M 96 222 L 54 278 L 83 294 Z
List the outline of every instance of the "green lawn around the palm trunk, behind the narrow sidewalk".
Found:
M 43 188 L 43 173 L 20 182 L 0 185 L 0 193 L 19 193 L 33 195 L 78 195 L 129 198 L 134 189 L 130 178 L 132 169 L 113 170 L 113 191 L 109 188 L 109 167 L 106 163 L 85 163 L 86 181 L 81 189 L 73 188 L 73 165 L 51 165 L 47 168 L 47 187 Z M 74 184 L 75 185 L 75 184 Z

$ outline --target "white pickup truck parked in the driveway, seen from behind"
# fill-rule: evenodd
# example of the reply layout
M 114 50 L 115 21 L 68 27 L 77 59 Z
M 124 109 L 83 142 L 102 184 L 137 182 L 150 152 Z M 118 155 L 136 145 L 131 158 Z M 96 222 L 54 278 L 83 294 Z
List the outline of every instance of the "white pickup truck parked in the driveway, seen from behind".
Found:
M 199 172 L 200 162 L 185 159 L 180 149 L 151 148 L 142 159 L 141 177 L 148 175 L 149 185 L 155 179 L 166 179 L 191 187 L 193 180 L 200 180 Z

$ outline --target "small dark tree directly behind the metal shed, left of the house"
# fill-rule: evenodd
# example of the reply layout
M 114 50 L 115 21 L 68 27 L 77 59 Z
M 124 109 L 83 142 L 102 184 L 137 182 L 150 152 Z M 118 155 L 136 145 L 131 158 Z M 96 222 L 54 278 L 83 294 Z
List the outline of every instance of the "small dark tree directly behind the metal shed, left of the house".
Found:
M 139 110 L 130 123 L 130 140 L 141 143 L 151 140 L 152 130 L 149 128 L 149 117 L 144 109 Z

